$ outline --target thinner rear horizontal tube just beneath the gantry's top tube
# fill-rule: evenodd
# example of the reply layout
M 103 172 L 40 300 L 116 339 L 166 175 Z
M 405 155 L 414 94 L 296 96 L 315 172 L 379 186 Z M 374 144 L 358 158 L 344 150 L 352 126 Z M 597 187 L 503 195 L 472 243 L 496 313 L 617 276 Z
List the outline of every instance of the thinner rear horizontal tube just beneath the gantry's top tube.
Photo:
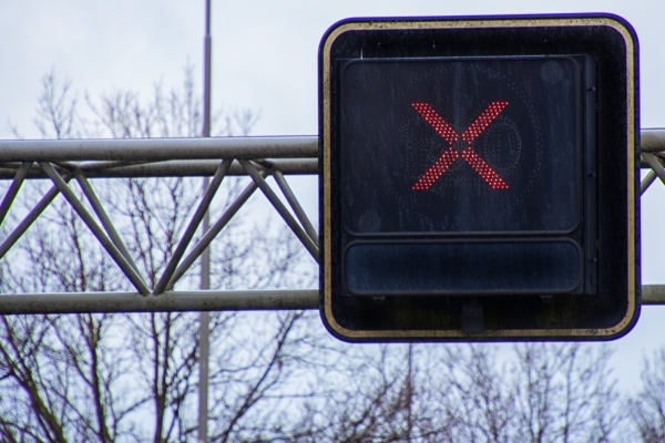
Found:
M 1 154 L 0 154 L 1 157 Z M 284 175 L 308 175 L 318 174 L 317 158 L 269 158 Z M 0 165 L 0 179 L 13 179 L 17 168 L 2 167 Z M 94 167 L 96 166 L 96 167 Z M 81 171 L 88 178 L 120 178 L 120 177 L 201 177 L 213 176 L 219 166 L 219 159 L 198 161 L 171 161 L 160 163 L 143 163 L 139 165 L 125 165 L 109 168 L 104 163 L 82 164 Z M 246 175 L 241 165 L 234 162 L 227 176 Z M 28 172 L 28 179 L 48 178 L 41 168 L 33 167 Z

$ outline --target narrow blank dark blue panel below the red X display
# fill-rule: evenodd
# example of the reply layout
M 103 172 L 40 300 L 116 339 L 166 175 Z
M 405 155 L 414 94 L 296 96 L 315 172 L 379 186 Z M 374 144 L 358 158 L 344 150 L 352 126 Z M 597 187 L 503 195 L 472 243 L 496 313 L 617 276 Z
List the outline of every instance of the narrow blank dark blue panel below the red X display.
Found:
M 569 239 L 356 241 L 342 272 L 352 296 L 561 293 L 582 281 L 582 250 Z

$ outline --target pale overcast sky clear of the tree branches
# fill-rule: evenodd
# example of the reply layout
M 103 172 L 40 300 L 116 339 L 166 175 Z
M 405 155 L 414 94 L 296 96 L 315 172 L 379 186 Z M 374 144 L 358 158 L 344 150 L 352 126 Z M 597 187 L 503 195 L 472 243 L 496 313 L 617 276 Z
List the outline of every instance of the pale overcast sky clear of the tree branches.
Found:
M 642 127 L 665 126 L 664 1 L 213 0 L 213 103 L 262 110 L 256 135 L 317 133 L 317 50 L 328 27 L 348 17 L 612 12 L 640 38 Z M 7 122 L 27 137 L 40 79 L 51 69 L 92 95 L 182 80 L 190 60 L 202 78 L 204 0 L 0 0 L 0 137 Z M 198 82 L 201 84 L 201 82 Z M 297 181 L 316 216 L 316 181 Z M 643 282 L 665 284 L 665 188 L 642 198 Z M 637 380 L 644 352 L 665 343 L 665 307 L 646 307 L 613 342 L 622 385 Z

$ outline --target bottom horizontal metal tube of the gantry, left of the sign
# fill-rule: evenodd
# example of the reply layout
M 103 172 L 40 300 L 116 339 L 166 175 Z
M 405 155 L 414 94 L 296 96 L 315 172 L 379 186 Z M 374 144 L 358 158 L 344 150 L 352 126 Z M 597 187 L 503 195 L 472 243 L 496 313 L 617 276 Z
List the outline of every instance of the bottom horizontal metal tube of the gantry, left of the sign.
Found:
M 79 292 L 0 295 L 0 313 L 252 311 L 318 309 L 318 290 Z

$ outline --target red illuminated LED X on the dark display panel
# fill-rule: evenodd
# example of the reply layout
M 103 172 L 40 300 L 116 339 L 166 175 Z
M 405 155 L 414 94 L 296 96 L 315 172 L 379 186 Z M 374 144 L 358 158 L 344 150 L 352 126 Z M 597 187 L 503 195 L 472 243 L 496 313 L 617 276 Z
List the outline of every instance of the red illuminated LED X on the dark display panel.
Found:
M 460 153 L 453 148 L 453 143 L 460 137 L 437 111 L 428 103 L 412 103 L 416 111 L 441 135 L 450 146 L 439 159 L 416 182 L 412 189 L 429 189 L 441 175 L 460 157 Z M 493 189 L 508 189 L 508 184 L 485 163 L 480 155 L 475 154 L 471 144 L 478 136 L 499 116 L 501 111 L 508 106 L 508 102 L 492 102 L 487 110 L 475 119 L 467 131 L 462 133 L 462 140 L 469 144 L 462 150 L 461 157 Z

